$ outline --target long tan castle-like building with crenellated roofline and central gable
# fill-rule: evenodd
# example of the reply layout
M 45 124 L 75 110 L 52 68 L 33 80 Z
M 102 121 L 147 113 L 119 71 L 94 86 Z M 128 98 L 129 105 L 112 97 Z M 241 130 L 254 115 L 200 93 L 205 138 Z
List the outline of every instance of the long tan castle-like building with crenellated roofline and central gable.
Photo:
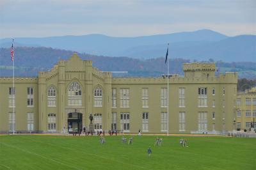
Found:
M 214 63 L 184 64 L 184 76 L 112 77 L 75 53 L 38 77 L 0 77 L 0 132 L 221 134 L 234 130 L 237 73 Z M 169 104 L 167 104 L 169 101 Z M 169 116 L 167 115 L 169 105 Z M 15 112 L 13 113 L 13 107 Z M 169 118 L 169 121 L 167 121 Z M 14 124 L 13 124 L 14 123 Z

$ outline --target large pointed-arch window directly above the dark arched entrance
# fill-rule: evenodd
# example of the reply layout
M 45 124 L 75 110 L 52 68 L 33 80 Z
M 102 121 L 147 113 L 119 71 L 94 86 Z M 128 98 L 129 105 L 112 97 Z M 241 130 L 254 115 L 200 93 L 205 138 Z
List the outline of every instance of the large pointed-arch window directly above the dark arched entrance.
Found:
M 82 89 L 78 82 L 72 82 L 68 87 L 68 105 L 82 105 Z

